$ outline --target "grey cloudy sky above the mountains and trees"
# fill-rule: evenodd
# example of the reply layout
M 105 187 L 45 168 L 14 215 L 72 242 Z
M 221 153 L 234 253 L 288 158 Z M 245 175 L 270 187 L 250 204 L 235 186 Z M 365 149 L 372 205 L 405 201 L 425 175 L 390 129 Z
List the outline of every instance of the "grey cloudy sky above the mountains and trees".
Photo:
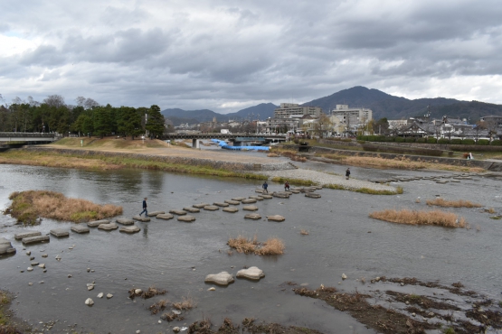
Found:
M 0 13 L 6 103 L 227 113 L 365 86 L 502 104 L 500 0 L 3 0 Z

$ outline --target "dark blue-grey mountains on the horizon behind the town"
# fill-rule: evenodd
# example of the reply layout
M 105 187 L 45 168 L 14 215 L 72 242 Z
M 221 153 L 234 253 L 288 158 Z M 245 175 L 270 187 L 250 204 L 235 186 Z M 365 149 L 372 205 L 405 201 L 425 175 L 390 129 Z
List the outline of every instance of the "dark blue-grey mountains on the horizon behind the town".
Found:
M 303 106 L 322 107 L 325 113 L 336 105 L 348 105 L 349 107 L 365 107 L 373 110 L 373 118 L 380 119 L 405 119 L 411 116 L 424 116 L 429 108 L 431 117 L 458 116 L 466 118 L 469 123 L 475 123 L 481 116 L 502 116 L 502 105 L 484 103 L 479 101 L 461 101 L 454 98 L 434 97 L 408 99 L 395 97 L 378 89 L 370 89 L 361 86 L 340 90 L 327 97 L 320 97 Z M 175 125 L 181 123 L 199 123 L 212 121 L 213 117 L 219 122 L 229 119 L 266 119 L 273 116 L 273 111 L 278 106 L 272 103 L 261 103 L 254 107 L 242 109 L 236 113 L 218 114 L 212 110 L 183 110 L 166 109 L 162 114 L 169 118 Z

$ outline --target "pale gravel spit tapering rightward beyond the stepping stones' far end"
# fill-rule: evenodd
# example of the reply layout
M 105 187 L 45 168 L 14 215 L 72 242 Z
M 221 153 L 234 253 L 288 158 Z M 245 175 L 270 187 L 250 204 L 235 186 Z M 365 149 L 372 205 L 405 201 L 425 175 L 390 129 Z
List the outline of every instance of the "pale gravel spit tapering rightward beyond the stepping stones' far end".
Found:
M 368 188 L 372 190 L 391 190 L 395 191 L 394 187 L 386 186 L 384 184 L 373 183 L 369 181 L 361 181 L 355 179 L 346 180 L 345 176 L 327 174 L 326 172 L 317 172 L 310 170 L 289 170 L 289 171 L 270 171 L 260 172 L 261 175 L 269 177 L 279 176 L 289 179 L 301 179 L 313 181 L 320 185 L 336 184 L 345 187 L 347 190 L 358 190 L 361 188 Z

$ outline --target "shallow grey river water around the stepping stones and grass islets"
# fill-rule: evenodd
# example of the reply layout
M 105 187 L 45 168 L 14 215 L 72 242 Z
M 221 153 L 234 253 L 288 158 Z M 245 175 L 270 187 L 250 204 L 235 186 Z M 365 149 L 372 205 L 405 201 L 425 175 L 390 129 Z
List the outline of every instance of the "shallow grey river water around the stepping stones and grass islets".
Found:
M 306 162 L 304 168 L 343 173 L 344 166 Z M 448 172 L 403 172 L 351 168 L 362 180 L 393 176 L 445 175 Z M 260 181 L 214 178 L 152 171 L 89 172 L 44 167 L 0 165 L 0 209 L 9 206 L 13 191 L 55 190 L 67 197 L 90 199 L 124 208 L 124 217 L 141 211 L 141 199 L 148 197 L 149 210 L 182 209 L 195 203 L 223 201 L 256 195 Z M 397 185 L 394 184 L 393 185 Z M 71 223 L 44 219 L 36 227 L 14 225 L 14 219 L 0 216 L 0 237 L 12 241 L 17 254 L 0 257 L 0 289 L 16 294 L 16 315 L 34 327 L 39 322 L 59 320 L 52 332 L 74 326 L 82 332 L 142 333 L 172 332 L 194 320 L 209 318 L 220 324 L 229 317 L 240 322 L 254 317 L 283 325 L 305 326 L 325 333 L 374 332 L 348 314 L 335 311 L 325 302 L 300 297 L 287 282 L 316 289 L 319 284 L 352 292 L 361 283 L 355 279 L 375 276 L 416 277 L 450 285 L 462 282 L 467 289 L 500 299 L 502 292 L 502 220 L 490 219 L 483 209 L 451 209 L 466 218 L 471 229 L 414 227 L 369 218 L 374 210 L 427 209 L 425 199 L 469 199 L 486 208 L 502 209 L 501 181 L 474 176 L 459 183 L 409 181 L 401 184 L 402 195 L 374 196 L 345 190 L 319 190 L 321 199 L 303 194 L 289 199 L 266 199 L 256 205 L 262 217 L 279 214 L 284 222 L 247 220 L 245 211 L 227 213 L 202 210 L 193 223 L 152 218 L 136 223 L 135 235 L 91 228 L 90 234 L 26 246 L 34 261 L 44 263 L 47 272 L 35 267 L 27 272 L 30 258 L 14 234 L 33 229 L 49 233 L 55 227 L 70 229 Z M 270 190 L 281 185 L 270 184 Z M 421 198 L 421 202 L 415 200 Z M 242 205 L 238 206 L 242 208 Z M 306 229 L 308 236 L 299 234 Z M 371 233 L 369 233 L 371 232 Z M 279 237 L 284 255 L 260 257 L 233 252 L 228 255 L 229 237 L 257 236 L 265 241 Z M 74 246 L 73 249 L 69 249 Z M 48 254 L 47 258 L 41 257 Z M 61 255 L 60 262 L 55 260 Z M 243 266 L 256 265 L 266 276 L 260 282 L 236 279 L 228 287 L 204 283 L 207 274 L 227 271 L 236 274 Z M 87 268 L 94 270 L 87 272 Z M 24 273 L 20 273 L 24 270 Z M 71 274 L 71 278 L 68 275 Z M 341 275 L 348 279 L 342 281 Z M 43 282 L 43 283 L 41 283 Z M 87 283 L 96 283 L 92 291 Z M 28 283 L 33 283 L 29 286 Z M 128 299 L 128 290 L 148 286 L 166 289 L 165 296 Z M 421 287 L 412 287 L 420 292 Z M 99 292 L 113 298 L 99 299 Z M 185 313 L 185 320 L 168 323 L 160 313 L 150 315 L 147 307 L 160 299 L 179 302 L 191 297 L 197 307 Z M 94 306 L 84 304 L 92 298 Z M 77 324 L 75 326 L 75 324 Z

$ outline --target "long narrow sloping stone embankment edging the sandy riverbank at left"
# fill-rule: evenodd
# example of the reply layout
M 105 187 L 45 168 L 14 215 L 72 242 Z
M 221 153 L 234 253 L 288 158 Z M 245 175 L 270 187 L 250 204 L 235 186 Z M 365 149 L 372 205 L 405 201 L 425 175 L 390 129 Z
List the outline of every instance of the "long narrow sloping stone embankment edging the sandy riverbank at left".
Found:
M 187 158 L 180 156 L 165 156 L 165 155 L 154 155 L 154 154 L 138 154 L 138 153 L 118 153 L 118 152 L 101 152 L 101 151 L 91 151 L 91 150 L 71 150 L 71 149 L 57 149 L 49 147 L 33 147 L 27 146 L 21 148 L 24 151 L 31 152 L 49 152 L 49 153 L 60 153 L 60 154 L 72 154 L 72 155 L 98 155 L 107 157 L 124 157 L 130 159 L 147 160 L 152 162 L 167 162 L 167 163 L 178 163 L 186 165 L 194 165 L 201 167 L 210 167 L 216 170 L 226 170 L 234 172 L 248 172 L 256 171 L 256 163 L 246 163 L 246 162 L 227 162 L 222 160 L 208 160 L 208 159 L 198 159 L 198 158 Z M 274 162 L 274 163 L 262 163 L 260 164 L 260 171 L 281 171 L 290 170 L 295 167 L 289 162 Z

